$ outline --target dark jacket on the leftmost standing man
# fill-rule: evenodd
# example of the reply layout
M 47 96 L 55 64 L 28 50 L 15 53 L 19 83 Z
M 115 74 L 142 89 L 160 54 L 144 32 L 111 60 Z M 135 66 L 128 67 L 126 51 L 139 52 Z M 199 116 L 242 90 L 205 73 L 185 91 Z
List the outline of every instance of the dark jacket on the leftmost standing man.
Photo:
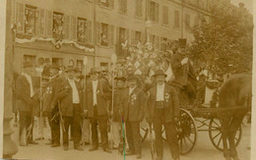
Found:
M 34 112 L 39 103 L 38 92 L 36 92 L 38 85 L 35 78 L 32 78 L 32 86 L 34 95 L 31 97 L 31 86 L 27 78 L 20 76 L 16 80 L 17 110 L 30 113 Z

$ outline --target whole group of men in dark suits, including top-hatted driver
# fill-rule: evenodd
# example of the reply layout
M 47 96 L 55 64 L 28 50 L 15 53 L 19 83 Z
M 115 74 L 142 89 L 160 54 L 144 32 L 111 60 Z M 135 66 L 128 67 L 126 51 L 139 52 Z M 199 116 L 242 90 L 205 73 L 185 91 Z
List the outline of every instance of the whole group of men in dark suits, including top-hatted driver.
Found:
M 193 92 L 193 85 L 188 85 L 185 80 L 187 78 L 184 79 L 183 71 L 188 59 L 182 55 L 183 52 L 181 47 L 180 54 L 176 55 L 178 57 L 173 58 L 175 60 L 175 63 L 172 63 L 173 72 L 176 73 L 176 83 L 186 85 L 189 91 Z M 45 83 L 42 89 L 38 89 L 35 85 L 36 80 L 32 77 L 34 66 L 30 63 L 24 64 L 23 75 L 16 80 L 20 145 L 37 143 L 32 138 L 33 116 L 37 114 L 39 117 L 38 113 L 41 111 L 42 116 L 48 119 L 51 147 L 61 145 L 62 130 L 64 150 L 69 149 L 69 138 L 72 137 L 74 149 L 84 150 L 84 145 L 91 143 L 90 151 L 94 151 L 98 149 L 100 133 L 103 151 L 111 153 L 108 146 L 110 117 L 112 148 L 118 148 L 122 142 L 120 130 L 122 125 L 125 125 L 129 146 L 126 156 L 136 155 L 137 159 L 140 159 L 142 158 L 140 123 L 146 119 L 154 127 L 157 159 L 163 158 L 162 126 L 165 129 L 172 158 L 179 159 L 175 127 L 175 121 L 179 118 L 178 90 L 165 82 L 166 75 L 162 70 L 155 72 L 155 82 L 148 90 L 138 85 L 138 77 L 133 74 L 126 78 L 116 77 L 115 87 L 112 90 L 112 86 L 99 68 L 92 68 L 90 75 L 85 78 L 73 66 L 68 66 L 61 73 L 59 66 L 52 65 L 48 67 L 48 71 L 47 77 L 40 80 Z M 41 107 L 36 110 L 35 106 Z M 25 133 L 25 141 L 22 140 L 23 133 Z M 90 141 L 91 133 L 92 141 Z

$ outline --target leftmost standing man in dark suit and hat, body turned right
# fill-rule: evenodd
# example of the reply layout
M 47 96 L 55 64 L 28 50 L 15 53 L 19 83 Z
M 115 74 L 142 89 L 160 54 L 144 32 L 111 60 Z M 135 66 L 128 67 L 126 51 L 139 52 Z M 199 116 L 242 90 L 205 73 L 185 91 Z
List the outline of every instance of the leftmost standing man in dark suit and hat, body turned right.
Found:
M 17 109 L 20 114 L 20 138 L 21 134 L 26 131 L 26 143 L 37 144 L 32 140 L 32 123 L 34 107 L 38 104 L 39 98 L 35 93 L 35 80 L 32 78 L 34 66 L 31 63 L 25 63 L 23 66 L 23 75 L 16 81 Z M 21 143 L 20 145 L 26 145 Z

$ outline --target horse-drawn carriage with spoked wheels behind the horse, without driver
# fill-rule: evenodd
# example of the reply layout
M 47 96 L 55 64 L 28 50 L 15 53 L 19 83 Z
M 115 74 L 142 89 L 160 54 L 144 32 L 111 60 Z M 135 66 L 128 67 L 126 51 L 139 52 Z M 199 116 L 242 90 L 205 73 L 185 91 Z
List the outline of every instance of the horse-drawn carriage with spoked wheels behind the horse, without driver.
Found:
M 219 149 L 224 150 L 223 132 L 222 132 L 222 118 L 220 115 L 225 112 L 232 112 L 235 110 L 247 110 L 248 108 L 232 107 L 220 108 L 218 92 L 220 83 L 217 80 L 208 80 L 204 86 L 205 91 L 204 102 L 200 103 L 198 97 L 193 104 L 181 103 L 180 104 L 180 118 L 177 122 L 177 133 L 180 147 L 180 154 L 188 154 L 193 150 L 196 145 L 198 132 L 207 132 L 213 145 Z M 180 100 L 182 101 L 182 99 Z M 148 134 L 149 128 L 146 122 L 141 125 L 141 135 L 144 141 Z M 162 128 L 162 139 L 166 140 L 164 129 Z M 234 144 L 237 146 L 241 140 L 242 129 L 241 124 L 235 131 Z

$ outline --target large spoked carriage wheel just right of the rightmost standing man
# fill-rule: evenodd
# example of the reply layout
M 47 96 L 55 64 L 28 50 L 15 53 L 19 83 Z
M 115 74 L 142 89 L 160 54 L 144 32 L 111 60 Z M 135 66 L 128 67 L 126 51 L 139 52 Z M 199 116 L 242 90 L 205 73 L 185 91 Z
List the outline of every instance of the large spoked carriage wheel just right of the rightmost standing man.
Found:
M 197 128 L 192 115 L 180 109 L 180 119 L 177 125 L 178 144 L 181 155 L 189 153 L 196 145 Z

